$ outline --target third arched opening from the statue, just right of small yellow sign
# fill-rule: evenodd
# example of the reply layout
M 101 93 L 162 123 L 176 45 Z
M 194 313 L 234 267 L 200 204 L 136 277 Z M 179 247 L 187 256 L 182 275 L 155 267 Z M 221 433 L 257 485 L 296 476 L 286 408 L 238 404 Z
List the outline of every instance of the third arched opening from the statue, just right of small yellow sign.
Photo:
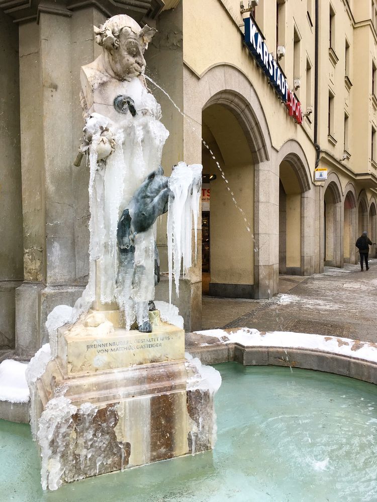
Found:
M 341 198 L 337 184 L 331 181 L 324 195 L 324 264 L 331 267 L 341 267 Z

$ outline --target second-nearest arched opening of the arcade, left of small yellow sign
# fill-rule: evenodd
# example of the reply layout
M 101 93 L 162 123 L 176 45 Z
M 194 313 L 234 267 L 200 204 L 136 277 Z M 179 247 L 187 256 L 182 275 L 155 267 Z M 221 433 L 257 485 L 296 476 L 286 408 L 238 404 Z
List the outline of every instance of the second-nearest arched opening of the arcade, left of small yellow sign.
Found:
M 290 162 L 279 167 L 279 274 L 301 275 L 302 186 Z

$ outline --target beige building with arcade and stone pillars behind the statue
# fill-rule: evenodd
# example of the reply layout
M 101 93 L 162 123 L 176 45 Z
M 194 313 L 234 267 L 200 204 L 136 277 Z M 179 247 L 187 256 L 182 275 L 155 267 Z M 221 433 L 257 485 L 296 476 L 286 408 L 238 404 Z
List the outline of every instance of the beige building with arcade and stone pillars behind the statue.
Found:
M 186 330 L 201 327 L 202 279 L 213 296 L 269 298 L 279 274 L 356 263 L 361 231 L 376 240 L 377 5 L 246 4 L 0 2 L 0 349 L 32 355 L 46 341 L 47 314 L 85 285 L 78 75 L 99 54 L 92 25 L 117 13 L 158 30 L 145 58 L 169 96 L 148 81 L 170 131 L 165 172 L 181 160 L 203 164 L 202 256 L 173 299 Z M 156 296 L 167 300 L 166 276 Z

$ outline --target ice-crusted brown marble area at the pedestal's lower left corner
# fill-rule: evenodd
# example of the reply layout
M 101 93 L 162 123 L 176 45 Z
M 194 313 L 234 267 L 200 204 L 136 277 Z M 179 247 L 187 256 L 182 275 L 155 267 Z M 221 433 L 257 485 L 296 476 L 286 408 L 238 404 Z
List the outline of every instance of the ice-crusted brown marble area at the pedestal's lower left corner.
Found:
M 117 440 L 116 405 L 78 408 L 60 395 L 51 399 L 39 420 L 42 488 L 120 470 L 129 457 L 128 443 Z

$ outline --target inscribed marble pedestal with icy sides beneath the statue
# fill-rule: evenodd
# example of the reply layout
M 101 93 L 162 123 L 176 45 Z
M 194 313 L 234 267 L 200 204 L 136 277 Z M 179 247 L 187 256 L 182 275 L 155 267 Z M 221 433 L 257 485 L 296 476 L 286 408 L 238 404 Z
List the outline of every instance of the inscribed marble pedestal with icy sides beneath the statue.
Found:
M 221 376 L 199 359 L 185 358 L 184 331 L 161 321 L 152 333 L 113 329 L 104 334 L 106 323 L 88 332 L 83 327 L 76 335 L 72 328 L 58 329 L 57 356 L 51 359 L 44 346 L 31 361 L 31 424 L 44 488 L 215 444 L 213 398 Z M 74 362 L 80 351 L 67 357 L 72 337 L 89 346 L 81 365 Z M 152 362 L 149 355 L 144 360 L 142 354 L 156 344 L 163 360 Z M 91 345 L 98 346 L 98 356 Z

